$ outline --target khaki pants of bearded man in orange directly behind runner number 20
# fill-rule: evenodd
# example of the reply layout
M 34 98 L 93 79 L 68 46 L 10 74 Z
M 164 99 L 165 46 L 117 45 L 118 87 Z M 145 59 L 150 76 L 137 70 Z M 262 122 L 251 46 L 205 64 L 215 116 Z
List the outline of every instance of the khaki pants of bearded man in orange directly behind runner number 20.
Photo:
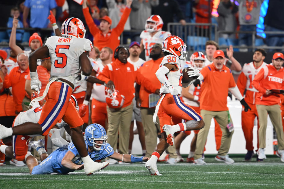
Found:
M 160 132 L 159 118 L 156 118 L 157 124 L 153 122 L 153 115 L 155 108 L 141 108 L 141 120 L 145 132 L 145 143 L 146 143 L 146 157 L 151 157 L 157 146 L 157 132 Z M 166 149 L 169 154 L 169 158 L 176 158 L 175 146 L 169 146 Z

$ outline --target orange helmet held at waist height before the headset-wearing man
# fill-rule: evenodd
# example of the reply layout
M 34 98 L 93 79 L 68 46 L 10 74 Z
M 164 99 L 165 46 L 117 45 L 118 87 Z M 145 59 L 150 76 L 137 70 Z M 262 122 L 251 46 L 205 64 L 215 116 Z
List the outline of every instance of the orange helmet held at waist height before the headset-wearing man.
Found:
M 124 103 L 125 97 L 120 94 L 117 90 L 114 89 L 112 91 L 111 89 L 106 89 L 106 104 L 110 108 L 120 108 L 122 107 Z

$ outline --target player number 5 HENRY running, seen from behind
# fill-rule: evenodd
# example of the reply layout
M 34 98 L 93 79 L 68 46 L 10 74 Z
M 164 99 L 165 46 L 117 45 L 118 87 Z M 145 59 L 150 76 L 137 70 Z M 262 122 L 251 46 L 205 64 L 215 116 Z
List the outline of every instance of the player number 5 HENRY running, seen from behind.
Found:
M 43 96 L 34 99 L 38 101 L 47 96 L 38 123 L 26 122 L 13 128 L 0 125 L 0 139 L 11 135 L 46 135 L 59 120 L 63 119 L 71 128 L 71 138 L 84 162 L 85 174 L 90 175 L 103 169 L 108 163 L 93 162 L 88 155 L 81 128 L 83 120 L 70 102 L 70 96 L 80 70 L 85 76 L 91 74 L 92 66 L 88 52 L 92 49 L 92 42 L 84 39 L 85 27 L 78 18 L 66 19 L 61 31 L 62 37 L 49 37 L 43 47 L 29 56 L 31 89 L 38 92 L 41 89 L 41 82 L 36 72 L 36 60 L 50 57 L 52 63 L 50 82 Z

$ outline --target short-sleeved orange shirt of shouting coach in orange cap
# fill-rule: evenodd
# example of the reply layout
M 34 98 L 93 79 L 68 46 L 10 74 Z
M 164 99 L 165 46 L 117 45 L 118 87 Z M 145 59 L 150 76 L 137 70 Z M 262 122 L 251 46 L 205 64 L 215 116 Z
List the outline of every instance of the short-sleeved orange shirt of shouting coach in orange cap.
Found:
M 221 71 L 214 63 L 204 67 L 201 71 L 204 82 L 201 85 L 200 109 L 208 111 L 226 111 L 229 88 L 236 83 L 229 68 L 223 65 Z

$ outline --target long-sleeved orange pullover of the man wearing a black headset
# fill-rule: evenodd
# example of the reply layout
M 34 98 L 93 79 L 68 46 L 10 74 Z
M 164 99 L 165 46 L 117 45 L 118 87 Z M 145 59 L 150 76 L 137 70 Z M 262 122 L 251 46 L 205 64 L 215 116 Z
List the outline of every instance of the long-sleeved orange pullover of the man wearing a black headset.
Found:
M 114 62 L 107 64 L 103 71 L 99 72 L 97 77 L 105 83 L 112 80 L 115 85 L 115 89 L 120 92 L 120 94 L 125 96 L 124 104 L 122 107 L 126 107 L 132 103 L 135 89 L 134 82 L 139 85 L 149 85 L 149 91 L 154 93 L 156 89 L 155 86 L 151 85 L 151 82 L 146 79 L 134 68 L 133 64 L 127 62 L 122 63 L 118 59 Z

